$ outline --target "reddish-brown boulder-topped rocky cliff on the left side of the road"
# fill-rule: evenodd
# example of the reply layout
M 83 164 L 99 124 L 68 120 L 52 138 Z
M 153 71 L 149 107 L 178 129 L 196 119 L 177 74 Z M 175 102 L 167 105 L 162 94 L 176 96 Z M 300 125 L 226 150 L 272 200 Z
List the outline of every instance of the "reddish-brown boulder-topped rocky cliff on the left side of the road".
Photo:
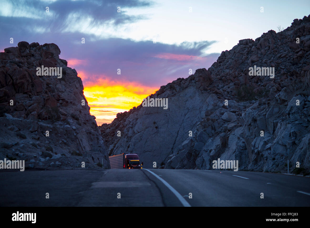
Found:
M 0 159 L 32 168 L 94 168 L 108 154 L 75 69 L 57 45 L 19 42 L 0 53 Z M 62 75 L 37 74 L 61 67 Z M 50 72 L 49 72 L 50 73 Z M 83 104 L 83 100 L 85 105 Z M 48 132 L 47 132 L 48 131 Z

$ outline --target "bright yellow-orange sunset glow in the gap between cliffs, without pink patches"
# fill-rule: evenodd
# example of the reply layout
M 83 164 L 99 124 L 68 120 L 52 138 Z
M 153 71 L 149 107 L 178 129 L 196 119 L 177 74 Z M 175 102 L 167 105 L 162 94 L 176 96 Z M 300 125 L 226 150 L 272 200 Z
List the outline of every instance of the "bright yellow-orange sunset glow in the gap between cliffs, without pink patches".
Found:
M 97 85 L 85 86 L 84 96 L 96 117 L 98 125 L 111 123 L 119 112 L 129 111 L 142 103 L 143 98 L 158 88 L 145 87 L 135 83 L 115 83 L 100 80 Z

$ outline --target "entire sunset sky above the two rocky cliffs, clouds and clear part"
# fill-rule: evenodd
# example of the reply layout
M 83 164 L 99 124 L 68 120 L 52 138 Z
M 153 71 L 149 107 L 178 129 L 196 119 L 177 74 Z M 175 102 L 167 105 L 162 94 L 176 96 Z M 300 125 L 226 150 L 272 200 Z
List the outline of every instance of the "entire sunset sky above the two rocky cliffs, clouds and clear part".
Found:
M 57 44 L 82 78 L 98 125 L 189 69 L 208 69 L 239 40 L 286 29 L 310 9 L 309 0 L 0 2 L 0 51 L 20 41 Z

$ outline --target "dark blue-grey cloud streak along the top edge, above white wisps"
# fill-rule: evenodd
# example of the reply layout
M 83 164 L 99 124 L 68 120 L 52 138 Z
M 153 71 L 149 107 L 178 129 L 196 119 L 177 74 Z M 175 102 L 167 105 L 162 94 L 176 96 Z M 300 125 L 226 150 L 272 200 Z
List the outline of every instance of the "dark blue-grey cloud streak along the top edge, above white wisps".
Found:
M 47 3 L 38 0 L 27 1 L 11 1 L 13 11 L 23 10 L 29 11 L 34 16 L 41 17 L 41 13 L 45 12 L 45 8 L 49 7 L 49 11 L 53 13 L 53 18 L 43 18 L 37 20 L 38 24 L 52 25 L 62 28 L 66 26 L 61 23 L 64 22 L 71 13 L 75 13 L 80 17 L 91 16 L 95 24 L 103 23 L 105 21 L 113 20 L 115 25 L 135 22 L 137 20 L 145 19 L 145 16 L 129 16 L 126 14 L 124 8 L 135 7 L 151 7 L 151 1 L 137 1 L 137 0 L 110 0 L 110 1 L 70 1 L 62 0 Z M 117 7 L 121 7 L 121 13 L 117 12 Z

